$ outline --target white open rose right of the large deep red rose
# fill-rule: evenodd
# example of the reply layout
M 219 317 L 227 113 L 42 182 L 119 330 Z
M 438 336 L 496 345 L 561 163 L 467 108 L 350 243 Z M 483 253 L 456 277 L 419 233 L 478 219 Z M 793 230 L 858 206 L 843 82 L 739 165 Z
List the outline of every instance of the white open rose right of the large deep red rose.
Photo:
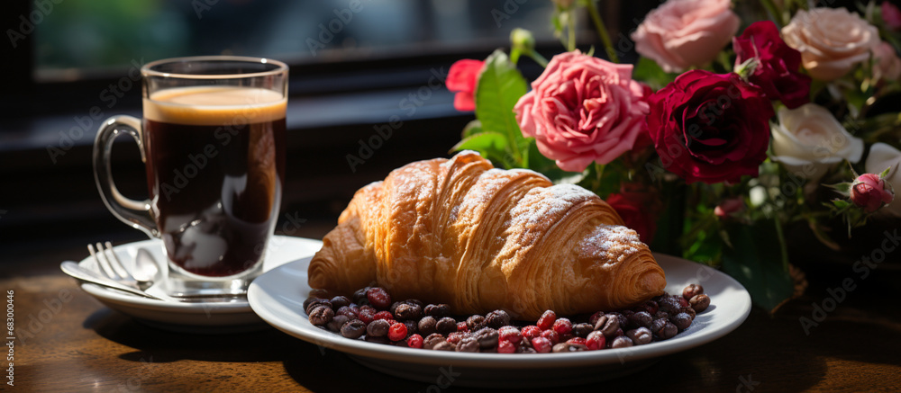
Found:
M 822 106 L 783 107 L 777 117 L 779 122 L 772 128 L 773 160 L 810 183 L 818 182 L 842 160 L 856 163 L 863 155 L 863 140 L 852 137 Z

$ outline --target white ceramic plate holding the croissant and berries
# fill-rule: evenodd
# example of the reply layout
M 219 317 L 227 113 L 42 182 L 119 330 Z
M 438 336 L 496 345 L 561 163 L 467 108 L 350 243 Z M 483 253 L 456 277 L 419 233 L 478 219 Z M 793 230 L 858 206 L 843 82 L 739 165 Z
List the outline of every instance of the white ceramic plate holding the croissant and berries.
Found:
M 681 293 L 700 283 L 711 306 L 684 332 L 667 341 L 623 349 L 581 353 L 453 353 L 402 348 L 350 340 L 313 326 L 303 312 L 310 292 L 306 270 L 310 258 L 287 263 L 250 284 L 250 307 L 288 335 L 343 353 L 369 368 L 397 377 L 436 383 L 453 378 L 454 386 L 540 387 L 609 380 L 640 371 L 661 356 L 720 338 L 751 312 L 751 295 L 732 277 L 669 255 L 654 255 L 667 275 L 667 292 Z

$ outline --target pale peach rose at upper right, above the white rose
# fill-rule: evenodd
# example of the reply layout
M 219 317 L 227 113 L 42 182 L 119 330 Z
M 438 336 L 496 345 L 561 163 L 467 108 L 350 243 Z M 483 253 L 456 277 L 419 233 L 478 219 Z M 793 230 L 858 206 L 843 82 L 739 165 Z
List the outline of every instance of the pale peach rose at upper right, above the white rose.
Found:
M 810 76 L 833 81 L 869 59 L 879 43 L 876 27 L 844 8 L 798 10 L 782 28 L 782 39 L 801 52 Z

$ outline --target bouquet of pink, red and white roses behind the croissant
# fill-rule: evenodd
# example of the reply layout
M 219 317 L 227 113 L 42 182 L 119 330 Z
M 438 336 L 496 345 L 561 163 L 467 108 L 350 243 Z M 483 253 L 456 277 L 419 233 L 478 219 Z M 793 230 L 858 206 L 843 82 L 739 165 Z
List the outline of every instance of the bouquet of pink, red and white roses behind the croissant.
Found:
M 554 4 L 566 51 L 550 61 L 516 29 L 509 55 L 451 67 L 455 107 L 477 118 L 454 150 L 596 192 L 652 249 L 719 266 L 768 310 L 795 292 L 784 228 L 837 248 L 868 219 L 901 217 L 894 5 L 762 0 L 766 16 L 742 21 L 730 0 L 668 0 L 626 42 L 630 65 L 595 0 Z M 577 49 L 580 12 L 606 59 Z M 523 58 L 544 67 L 531 89 Z

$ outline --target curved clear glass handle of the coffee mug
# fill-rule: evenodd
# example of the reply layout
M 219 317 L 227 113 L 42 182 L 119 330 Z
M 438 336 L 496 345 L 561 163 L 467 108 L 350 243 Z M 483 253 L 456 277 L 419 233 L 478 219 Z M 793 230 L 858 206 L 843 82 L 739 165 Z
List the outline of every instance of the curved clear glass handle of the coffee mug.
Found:
M 131 135 L 134 141 L 138 142 L 141 162 L 147 162 L 141 132 L 141 120 L 132 116 L 113 116 L 104 121 L 100 130 L 97 130 L 97 138 L 94 139 L 94 180 L 106 209 L 109 209 L 117 219 L 132 228 L 141 229 L 150 237 L 159 237 L 159 230 L 150 210 L 150 200 L 134 201 L 125 197 L 113 183 L 113 170 L 110 168 L 113 142 L 122 133 Z

